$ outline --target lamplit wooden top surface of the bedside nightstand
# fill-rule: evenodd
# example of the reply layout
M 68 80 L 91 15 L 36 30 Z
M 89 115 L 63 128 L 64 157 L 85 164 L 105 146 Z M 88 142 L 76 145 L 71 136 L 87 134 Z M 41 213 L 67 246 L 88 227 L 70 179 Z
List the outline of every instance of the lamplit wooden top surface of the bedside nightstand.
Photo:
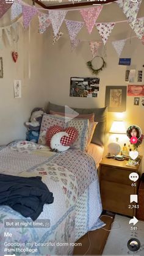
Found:
M 141 161 L 142 161 L 142 157 L 140 157 L 139 162 L 141 163 Z M 123 168 L 126 170 L 134 170 L 134 171 L 139 170 L 140 164 L 137 164 L 136 166 L 126 166 L 126 163 L 128 163 L 128 160 L 119 161 L 116 159 L 104 157 L 101 160 L 100 165 L 103 164 L 104 166 L 115 166 L 115 167 Z

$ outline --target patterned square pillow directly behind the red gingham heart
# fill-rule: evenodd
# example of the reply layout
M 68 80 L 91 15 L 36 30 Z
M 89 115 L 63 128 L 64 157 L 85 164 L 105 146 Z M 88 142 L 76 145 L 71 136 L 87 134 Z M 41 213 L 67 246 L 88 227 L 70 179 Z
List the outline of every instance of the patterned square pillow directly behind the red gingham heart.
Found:
M 76 128 L 79 135 L 74 144 L 71 145 L 70 148 L 79 149 L 82 151 L 87 150 L 89 129 L 88 119 L 71 119 L 70 121 L 65 123 L 64 117 L 57 117 L 56 115 L 44 114 L 41 122 L 38 144 L 46 145 L 46 131 L 54 125 L 60 126 L 63 129 L 68 128 L 70 126 Z

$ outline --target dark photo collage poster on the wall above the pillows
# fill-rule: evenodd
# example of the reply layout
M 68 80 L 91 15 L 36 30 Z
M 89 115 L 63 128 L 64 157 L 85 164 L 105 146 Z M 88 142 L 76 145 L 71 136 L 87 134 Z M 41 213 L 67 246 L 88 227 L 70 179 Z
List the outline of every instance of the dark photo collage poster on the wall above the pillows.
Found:
M 99 92 L 99 78 L 76 78 L 70 80 L 70 97 L 96 98 Z

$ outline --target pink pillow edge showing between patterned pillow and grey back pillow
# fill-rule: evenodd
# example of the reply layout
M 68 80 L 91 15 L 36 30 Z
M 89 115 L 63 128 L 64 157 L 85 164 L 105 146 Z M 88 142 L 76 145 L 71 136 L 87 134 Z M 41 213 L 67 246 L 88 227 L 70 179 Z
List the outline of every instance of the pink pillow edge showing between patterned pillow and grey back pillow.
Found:
M 62 116 L 66 116 L 66 117 L 70 117 L 70 118 L 76 118 L 76 119 L 88 119 L 90 122 L 94 122 L 95 121 L 95 113 L 92 114 L 84 114 L 84 115 L 77 115 L 77 117 L 74 117 L 74 114 L 65 114 L 63 112 L 57 112 L 57 111 L 49 111 L 49 114 L 51 115 L 62 115 Z

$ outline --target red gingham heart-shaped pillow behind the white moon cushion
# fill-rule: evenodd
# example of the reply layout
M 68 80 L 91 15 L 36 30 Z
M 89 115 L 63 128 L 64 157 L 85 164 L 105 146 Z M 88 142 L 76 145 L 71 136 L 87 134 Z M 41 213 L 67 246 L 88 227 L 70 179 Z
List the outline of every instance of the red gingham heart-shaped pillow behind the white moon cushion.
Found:
M 74 141 L 76 141 L 77 136 L 78 136 L 78 131 L 76 130 L 76 128 L 68 127 L 66 129 L 63 129 L 62 127 L 60 127 L 58 125 L 53 125 L 53 126 L 49 127 L 48 130 L 46 131 L 46 145 L 48 145 L 50 147 L 52 136 L 54 136 L 54 134 L 56 134 L 56 133 L 59 133 L 60 131 L 65 131 L 69 135 L 69 137 L 63 136 L 61 138 L 60 143 L 63 146 L 70 146 L 71 144 L 74 143 Z

